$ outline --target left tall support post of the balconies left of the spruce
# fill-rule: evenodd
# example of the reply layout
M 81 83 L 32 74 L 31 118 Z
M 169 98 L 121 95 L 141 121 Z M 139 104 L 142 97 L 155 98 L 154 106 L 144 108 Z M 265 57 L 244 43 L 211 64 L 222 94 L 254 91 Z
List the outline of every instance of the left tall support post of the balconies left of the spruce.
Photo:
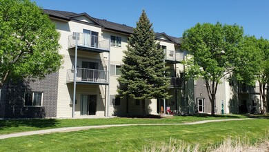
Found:
M 78 34 L 76 32 L 76 48 L 74 53 L 74 92 L 73 92 L 73 101 L 72 101 L 72 118 L 74 118 L 74 108 L 76 104 L 76 86 L 77 86 L 77 37 Z

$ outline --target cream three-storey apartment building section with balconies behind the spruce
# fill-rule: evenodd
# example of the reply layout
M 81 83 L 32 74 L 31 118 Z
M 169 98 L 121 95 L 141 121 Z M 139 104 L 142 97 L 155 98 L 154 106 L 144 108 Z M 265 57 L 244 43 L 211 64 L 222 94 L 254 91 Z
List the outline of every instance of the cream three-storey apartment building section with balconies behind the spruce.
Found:
M 161 106 L 180 113 L 195 112 L 193 81 L 183 79 L 186 55 L 181 39 L 156 33 L 169 66 L 171 99 L 116 97 L 123 50 L 133 28 L 86 13 L 44 10 L 61 33 L 62 68 L 45 79 L 12 80 L 1 91 L 0 117 L 109 117 L 157 115 Z M 77 74 L 74 75 L 75 71 Z M 75 76 L 75 77 L 74 77 Z

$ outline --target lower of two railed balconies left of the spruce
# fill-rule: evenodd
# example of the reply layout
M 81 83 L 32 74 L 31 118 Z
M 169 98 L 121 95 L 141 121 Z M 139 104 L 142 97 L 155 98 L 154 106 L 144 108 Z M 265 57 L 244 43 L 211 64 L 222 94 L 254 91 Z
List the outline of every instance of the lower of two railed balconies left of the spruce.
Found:
M 66 82 L 74 82 L 74 69 L 68 69 Z M 81 84 L 108 84 L 108 70 L 77 68 L 77 83 Z

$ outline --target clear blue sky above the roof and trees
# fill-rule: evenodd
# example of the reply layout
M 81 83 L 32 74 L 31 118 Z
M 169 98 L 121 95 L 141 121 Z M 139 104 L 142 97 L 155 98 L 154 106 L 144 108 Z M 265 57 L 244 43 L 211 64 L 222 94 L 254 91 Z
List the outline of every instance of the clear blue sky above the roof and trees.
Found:
M 136 26 L 146 10 L 155 32 L 181 37 L 196 23 L 243 26 L 246 35 L 269 39 L 268 0 L 32 0 L 52 10 L 86 12 L 91 17 Z

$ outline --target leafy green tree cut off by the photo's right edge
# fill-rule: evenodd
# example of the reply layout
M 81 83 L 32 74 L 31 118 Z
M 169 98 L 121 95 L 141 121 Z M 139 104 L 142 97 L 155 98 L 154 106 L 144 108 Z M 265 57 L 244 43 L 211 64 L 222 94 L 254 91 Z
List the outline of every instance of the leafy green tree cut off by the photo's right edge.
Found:
M 266 113 L 266 84 L 269 83 L 269 41 L 256 39 L 254 36 L 245 37 L 241 45 L 243 50 L 235 69 L 237 79 L 249 85 L 259 82 L 263 113 Z M 241 68 L 239 68 L 241 67 Z

